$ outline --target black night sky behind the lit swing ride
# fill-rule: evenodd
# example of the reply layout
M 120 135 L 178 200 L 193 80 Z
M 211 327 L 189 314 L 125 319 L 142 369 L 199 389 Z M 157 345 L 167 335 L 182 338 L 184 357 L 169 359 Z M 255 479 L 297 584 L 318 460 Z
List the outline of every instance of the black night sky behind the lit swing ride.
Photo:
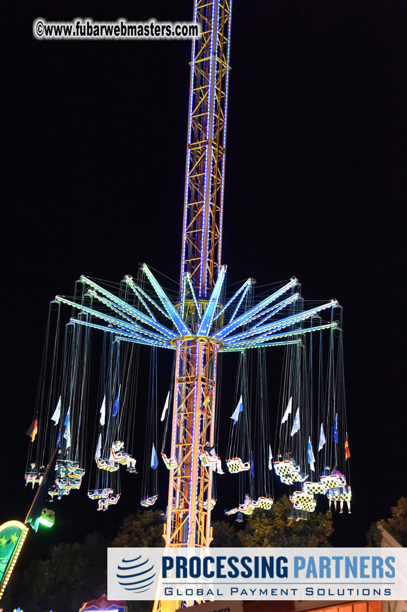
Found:
M 191 43 L 40 42 L 32 20 L 189 21 L 193 11 L 191 0 L 11 4 L 1 40 L 0 523 L 24 520 L 32 501 L 24 433 L 50 300 L 71 295 L 81 274 L 120 282 L 142 262 L 177 281 L 181 252 Z M 228 285 L 295 275 L 305 299 L 344 308 L 353 512 L 335 526 L 349 546 L 363 546 L 370 523 L 407 493 L 405 9 L 233 4 L 222 261 Z M 168 370 L 164 356 L 164 398 Z M 222 478 L 216 519 L 238 496 L 233 477 Z M 73 491 L 53 504 L 56 527 L 28 548 L 39 554 L 92 529 L 115 535 L 140 507 L 140 488 L 141 475 L 123 474 L 122 499 L 106 513 L 86 487 Z

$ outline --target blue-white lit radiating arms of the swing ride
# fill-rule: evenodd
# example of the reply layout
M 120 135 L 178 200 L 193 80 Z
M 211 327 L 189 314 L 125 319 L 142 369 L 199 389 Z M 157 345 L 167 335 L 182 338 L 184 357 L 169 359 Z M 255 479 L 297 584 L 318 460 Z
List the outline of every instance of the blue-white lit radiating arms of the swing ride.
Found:
M 143 264 L 141 270 L 150 283 L 149 291 L 134 282 L 133 277 L 125 276 L 127 291 L 123 299 L 82 275 L 79 282 L 87 289 L 80 301 L 65 296 L 56 296 L 55 301 L 80 311 L 78 318 L 70 319 L 72 324 L 112 332 L 116 341 L 169 349 L 189 340 L 213 343 L 225 353 L 282 346 L 301 343 L 301 335 L 307 332 L 339 325 L 332 317 L 331 321 L 320 318 L 322 310 L 330 308 L 333 312 L 339 306 L 337 300 L 304 310 L 303 298 L 296 290 L 299 283 L 294 277 L 245 312 L 242 312 L 247 304 L 244 300 L 254 285 L 252 278 L 222 304 L 226 267 L 221 266 L 213 291 L 204 299 L 196 296 L 187 272 L 182 300 L 173 304 L 149 267 Z

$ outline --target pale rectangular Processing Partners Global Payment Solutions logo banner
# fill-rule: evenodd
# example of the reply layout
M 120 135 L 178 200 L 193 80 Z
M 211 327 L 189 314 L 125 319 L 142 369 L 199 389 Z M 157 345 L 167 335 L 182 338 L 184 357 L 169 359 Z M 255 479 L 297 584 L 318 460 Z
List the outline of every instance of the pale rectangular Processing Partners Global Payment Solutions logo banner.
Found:
M 108 548 L 108 597 L 407 600 L 406 548 Z

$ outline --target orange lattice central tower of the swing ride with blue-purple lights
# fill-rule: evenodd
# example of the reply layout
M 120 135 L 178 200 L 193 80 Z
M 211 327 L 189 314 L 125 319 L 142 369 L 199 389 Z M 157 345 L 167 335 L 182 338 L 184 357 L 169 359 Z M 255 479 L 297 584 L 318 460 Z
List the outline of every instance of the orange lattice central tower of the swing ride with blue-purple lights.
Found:
M 177 343 L 166 547 L 208 547 L 212 470 L 199 461 L 213 443 L 216 348 L 200 330 L 221 269 L 222 207 L 226 151 L 232 2 L 195 0 L 186 152 L 183 242 L 178 312 L 191 337 Z M 212 315 L 213 318 L 213 315 Z M 220 324 L 220 321 L 219 321 Z M 206 331 L 206 333 L 205 333 Z

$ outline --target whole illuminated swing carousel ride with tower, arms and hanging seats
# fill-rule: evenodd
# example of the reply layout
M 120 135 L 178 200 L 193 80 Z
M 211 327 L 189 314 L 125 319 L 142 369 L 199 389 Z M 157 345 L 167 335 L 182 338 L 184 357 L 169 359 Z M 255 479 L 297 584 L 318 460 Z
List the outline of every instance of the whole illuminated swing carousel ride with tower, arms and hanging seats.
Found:
M 135 460 L 141 460 L 132 444 L 145 406 L 136 403 L 135 381 L 140 348 L 149 347 L 141 505 L 156 503 L 158 466 L 165 466 L 166 547 L 210 545 L 217 474 L 231 480 L 238 475 L 237 496 L 249 492 L 235 509 L 243 514 L 270 510 L 273 470 L 288 487 L 296 520 L 300 511 L 301 518 L 314 512 L 317 495 L 328 496 L 335 507 L 339 501 L 341 512 L 347 501 L 350 512 L 342 308 L 334 299 L 307 304 L 296 278 L 259 297 L 252 278 L 237 291 L 226 288 L 221 249 L 231 11 L 231 0 L 194 1 L 202 35 L 192 44 L 179 291 L 164 289 L 143 264 L 137 278 L 127 275 L 114 285 L 81 276 L 72 297 L 56 296 L 28 431 L 26 486 L 46 485 L 50 500 L 62 499 L 77 494 L 87 472 L 87 496 L 97 509 L 117 504 L 120 471 L 136 474 Z M 89 385 L 92 341 L 101 345 L 97 394 Z M 282 356 L 278 408 L 268 404 L 269 347 Z M 164 384 L 158 381 L 159 349 L 174 353 L 172 379 Z M 216 441 L 224 353 L 237 353 L 238 368 L 235 401 L 222 405 L 232 416 L 221 458 Z M 158 403 L 166 395 L 160 415 Z M 277 410 L 272 444 L 270 413 Z M 232 476 L 222 475 L 222 460 Z M 183 605 L 191 602 L 155 602 L 154 610 Z

